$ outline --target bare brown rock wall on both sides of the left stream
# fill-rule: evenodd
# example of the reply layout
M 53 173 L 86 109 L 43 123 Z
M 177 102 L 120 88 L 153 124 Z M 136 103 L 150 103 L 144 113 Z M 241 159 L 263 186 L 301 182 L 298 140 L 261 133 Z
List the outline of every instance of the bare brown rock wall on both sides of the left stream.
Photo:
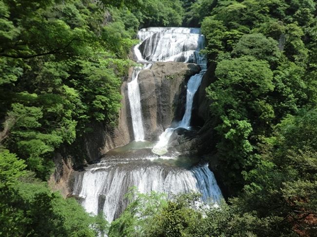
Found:
M 186 83 L 190 76 L 199 71 L 197 64 L 179 62 L 157 62 L 150 69 L 141 71 L 139 87 L 144 127 L 147 130 L 146 139 L 155 140 L 173 120 L 181 119 L 186 102 Z M 128 78 L 125 78 L 121 86 L 122 107 L 119 111 L 118 126 L 111 128 L 103 123 L 89 125 L 91 131 L 86 132 L 80 141 L 84 153 L 82 156 L 85 157 L 82 164 L 98 161 L 109 150 L 133 141 L 127 82 Z M 66 196 L 72 192 L 72 185 L 68 185 L 70 174 L 82 164 L 74 164 L 72 154 L 68 153 L 67 149 L 56 152 L 54 159 L 56 169 L 50 179 L 50 185 Z

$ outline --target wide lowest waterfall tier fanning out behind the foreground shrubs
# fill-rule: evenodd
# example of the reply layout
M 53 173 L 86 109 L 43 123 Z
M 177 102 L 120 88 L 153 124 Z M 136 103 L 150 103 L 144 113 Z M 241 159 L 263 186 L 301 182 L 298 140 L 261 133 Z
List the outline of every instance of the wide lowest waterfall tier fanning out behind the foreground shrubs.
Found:
M 167 193 L 168 197 L 195 191 L 202 194 L 203 202 L 219 203 L 222 198 L 214 174 L 206 164 L 187 170 L 126 159 L 103 161 L 80 172 L 73 193 L 82 198 L 81 205 L 88 213 L 97 215 L 103 211 L 111 222 L 126 208 L 128 201 L 124 195 L 132 186 L 141 193 L 155 190 Z

